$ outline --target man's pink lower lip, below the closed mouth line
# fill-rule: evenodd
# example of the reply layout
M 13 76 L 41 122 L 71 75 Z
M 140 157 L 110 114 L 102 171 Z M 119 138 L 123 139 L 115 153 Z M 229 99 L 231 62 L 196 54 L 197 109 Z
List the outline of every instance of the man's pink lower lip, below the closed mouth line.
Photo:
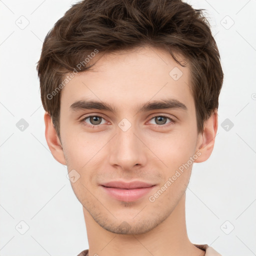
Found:
M 116 187 L 106 187 L 102 186 L 103 189 L 113 198 L 120 201 L 135 201 L 145 194 L 147 194 L 153 187 L 140 187 L 140 188 L 132 188 L 132 189 L 121 189 Z

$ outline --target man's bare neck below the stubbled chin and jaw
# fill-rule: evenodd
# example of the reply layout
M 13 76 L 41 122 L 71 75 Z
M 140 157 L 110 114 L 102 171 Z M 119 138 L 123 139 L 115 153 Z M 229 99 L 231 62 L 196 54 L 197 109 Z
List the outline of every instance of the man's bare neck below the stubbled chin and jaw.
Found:
M 185 225 L 185 194 L 172 213 L 146 233 L 116 234 L 101 227 L 83 207 L 89 243 L 89 256 L 202 256 L 187 237 Z M 156 216 L 157 217 L 157 216 Z

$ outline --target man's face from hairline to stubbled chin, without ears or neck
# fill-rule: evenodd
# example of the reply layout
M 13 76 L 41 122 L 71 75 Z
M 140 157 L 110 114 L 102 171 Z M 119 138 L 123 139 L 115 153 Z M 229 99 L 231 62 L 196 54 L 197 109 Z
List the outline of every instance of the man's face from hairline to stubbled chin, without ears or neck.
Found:
M 189 86 L 188 67 L 163 50 L 146 47 L 105 54 L 62 89 L 62 148 L 73 180 L 79 177 L 71 185 L 84 210 L 106 230 L 149 231 L 184 194 L 198 143 Z M 105 103 L 115 111 L 85 109 L 83 100 Z M 169 108 L 140 109 L 167 100 L 174 100 Z M 148 185 L 106 187 L 110 181 Z

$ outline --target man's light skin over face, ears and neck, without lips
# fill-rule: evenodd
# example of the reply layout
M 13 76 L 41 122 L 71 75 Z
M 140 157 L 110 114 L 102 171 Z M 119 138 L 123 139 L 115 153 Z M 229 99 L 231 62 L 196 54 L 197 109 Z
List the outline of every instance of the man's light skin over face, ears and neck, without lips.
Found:
M 61 90 L 60 139 L 49 114 L 44 115 L 53 157 L 80 175 L 71 185 L 83 206 L 89 256 L 119 256 L 120 251 L 122 256 L 204 255 L 186 232 L 185 189 L 192 164 L 167 188 L 166 181 L 196 152 L 193 162 L 210 156 L 217 112 L 198 133 L 189 66 L 178 65 L 162 49 L 136 48 L 96 60 L 93 70 L 75 75 Z M 177 80 L 169 75 L 174 67 L 182 71 Z M 186 109 L 179 105 L 138 111 L 145 103 L 165 99 L 179 101 Z M 116 111 L 78 108 L 73 103 L 79 100 L 104 102 Z M 99 117 L 85 118 L 88 115 Z M 131 124 L 126 131 L 118 126 L 123 118 Z M 112 180 L 155 186 L 127 202 L 102 189 L 100 184 Z M 165 191 L 150 201 L 164 184 Z

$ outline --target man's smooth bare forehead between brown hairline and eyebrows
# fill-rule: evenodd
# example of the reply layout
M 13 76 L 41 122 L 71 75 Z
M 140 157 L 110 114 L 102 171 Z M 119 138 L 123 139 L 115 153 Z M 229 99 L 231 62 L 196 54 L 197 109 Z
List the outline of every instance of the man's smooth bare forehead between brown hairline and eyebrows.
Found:
M 193 106 L 188 64 L 180 66 L 167 51 L 145 47 L 98 56 L 63 87 L 61 109 L 85 98 L 134 111 L 146 101 L 169 98 Z

